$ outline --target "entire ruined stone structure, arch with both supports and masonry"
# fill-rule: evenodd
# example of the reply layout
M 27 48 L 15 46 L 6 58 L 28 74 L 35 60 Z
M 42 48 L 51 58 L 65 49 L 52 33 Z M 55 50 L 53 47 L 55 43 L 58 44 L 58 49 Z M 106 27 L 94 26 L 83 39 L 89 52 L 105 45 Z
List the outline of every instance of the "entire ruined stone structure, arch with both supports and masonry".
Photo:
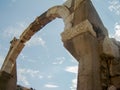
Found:
M 18 55 L 25 43 L 55 18 L 63 19 L 62 42 L 79 62 L 76 90 L 120 90 L 120 43 L 109 38 L 91 0 L 67 0 L 52 7 L 37 17 L 19 39 L 14 38 L 0 70 L 0 90 L 17 90 Z

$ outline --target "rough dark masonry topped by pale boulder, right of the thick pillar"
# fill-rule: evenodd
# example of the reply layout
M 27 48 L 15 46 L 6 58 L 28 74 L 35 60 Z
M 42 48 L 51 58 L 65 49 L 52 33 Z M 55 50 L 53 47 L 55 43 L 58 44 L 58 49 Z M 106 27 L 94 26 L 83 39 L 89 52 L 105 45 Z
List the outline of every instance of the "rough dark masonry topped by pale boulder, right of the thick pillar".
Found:
M 105 37 L 102 43 L 101 53 L 101 73 L 102 83 L 105 87 L 120 90 L 120 47 L 119 42 L 109 37 Z M 103 77 L 104 76 L 104 77 Z M 110 89 L 111 90 L 111 89 Z M 114 89 L 113 89 L 114 90 Z

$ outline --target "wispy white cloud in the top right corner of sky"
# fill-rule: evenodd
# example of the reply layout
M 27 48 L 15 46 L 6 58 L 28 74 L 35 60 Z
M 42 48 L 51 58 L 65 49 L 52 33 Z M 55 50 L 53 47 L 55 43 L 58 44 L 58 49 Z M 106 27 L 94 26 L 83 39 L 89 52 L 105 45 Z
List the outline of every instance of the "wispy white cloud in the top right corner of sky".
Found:
M 117 15 L 120 15 L 120 1 L 111 0 L 109 4 L 110 4 L 110 6 L 108 7 L 109 10 L 115 12 Z

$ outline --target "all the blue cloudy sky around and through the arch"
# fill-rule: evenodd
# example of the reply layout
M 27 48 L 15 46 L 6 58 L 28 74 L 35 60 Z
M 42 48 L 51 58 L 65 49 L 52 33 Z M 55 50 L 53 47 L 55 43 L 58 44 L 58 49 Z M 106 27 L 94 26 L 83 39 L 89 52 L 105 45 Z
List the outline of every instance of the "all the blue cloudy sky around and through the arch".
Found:
M 10 41 L 65 0 L 0 0 L 0 67 Z M 110 37 L 120 40 L 120 0 L 92 0 Z M 18 84 L 36 90 L 76 90 L 77 61 L 63 47 L 64 23 L 56 19 L 32 37 L 17 59 Z

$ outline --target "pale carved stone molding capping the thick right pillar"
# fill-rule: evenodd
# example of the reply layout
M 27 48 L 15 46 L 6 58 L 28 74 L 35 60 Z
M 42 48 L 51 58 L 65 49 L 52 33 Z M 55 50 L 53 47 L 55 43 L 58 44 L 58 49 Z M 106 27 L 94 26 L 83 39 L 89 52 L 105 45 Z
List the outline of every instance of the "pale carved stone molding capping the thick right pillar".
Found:
M 62 41 L 67 41 L 85 32 L 90 32 L 94 37 L 96 37 L 96 33 L 88 20 L 81 22 L 80 24 L 72 27 L 71 29 L 66 29 L 63 33 L 61 33 Z

